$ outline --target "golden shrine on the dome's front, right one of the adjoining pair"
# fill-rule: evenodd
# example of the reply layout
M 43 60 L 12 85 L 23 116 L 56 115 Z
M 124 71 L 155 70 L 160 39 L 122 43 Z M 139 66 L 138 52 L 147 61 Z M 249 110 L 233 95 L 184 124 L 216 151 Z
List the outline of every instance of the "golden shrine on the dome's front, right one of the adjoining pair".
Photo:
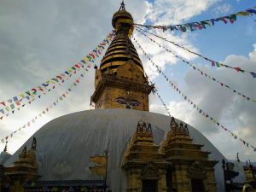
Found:
M 172 118 L 170 127 L 161 146 L 165 160 L 172 163 L 166 173 L 168 189 L 215 192 L 214 166 L 218 161 L 208 159 L 210 152 L 201 150 L 203 145 L 192 143 L 187 125 L 178 125 Z

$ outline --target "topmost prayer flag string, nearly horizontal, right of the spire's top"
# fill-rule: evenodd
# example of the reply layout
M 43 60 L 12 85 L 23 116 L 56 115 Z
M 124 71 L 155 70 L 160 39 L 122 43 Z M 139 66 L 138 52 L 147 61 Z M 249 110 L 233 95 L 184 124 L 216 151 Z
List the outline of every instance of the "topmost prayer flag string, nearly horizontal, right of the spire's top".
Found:
M 252 16 L 256 15 L 256 7 L 253 7 L 252 9 L 246 9 L 244 11 L 240 11 L 236 14 L 228 15 L 228 16 L 222 16 L 215 19 L 210 20 L 201 20 L 198 22 L 191 22 L 191 23 L 185 23 L 185 24 L 178 24 L 178 25 L 171 25 L 171 26 L 148 26 L 148 25 L 142 25 L 142 24 L 133 24 L 134 26 L 144 26 L 148 29 L 154 28 L 154 29 L 160 29 L 163 32 L 166 32 L 167 30 L 170 31 L 179 31 L 179 32 L 194 32 L 196 30 L 206 29 L 207 26 L 214 26 L 214 24 L 218 21 L 223 21 L 224 24 L 230 23 L 233 24 L 238 16 Z

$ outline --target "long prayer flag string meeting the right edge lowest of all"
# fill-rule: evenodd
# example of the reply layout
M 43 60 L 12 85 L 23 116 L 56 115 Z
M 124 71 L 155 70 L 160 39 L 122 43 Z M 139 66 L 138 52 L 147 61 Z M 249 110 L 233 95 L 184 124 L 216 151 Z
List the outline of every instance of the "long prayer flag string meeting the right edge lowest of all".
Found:
M 143 54 L 148 58 L 148 60 L 150 61 L 150 63 L 157 68 L 157 71 L 164 76 L 164 78 L 166 79 L 166 81 L 171 85 L 172 89 L 177 91 L 177 93 L 183 97 L 183 99 L 187 102 L 189 102 L 190 106 L 193 106 L 193 108 L 195 108 L 198 113 L 200 113 L 202 116 L 204 116 L 207 119 L 211 119 L 212 123 L 217 125 L 218 127 L 221 127 L 221 129 L 223 129 L 224 131 L 228 131 L 230 133 L 230 135 L 234 138 L 234 139 L 239 139 L 239 141 L 241 141 L 241 143 L 243 143 L 245 146 L 250 147 L 253 149 L 254 152 L 256 152 L 256 148 L 250 144 L 247 143 L 245 140 L 243 140 L 242 138 L 238 137 L 234 132 L 230 131 L 228 128 L 226 128 L 224 125 L 221 125 L 218 120 L 216 120 L 215 118 L 212 118 L 212 116 L 209 115 L 209 113 L 205 112 L 204 110 L 202 110 L 201 108 L 198 107 L 198 105 L 195 104 L 195 102 L 193 102 L 191 99 L 189 99 L 188 96 L 186 96 L 182 90 L 180 90 L 176 84 L 174 84 L 170 79 L 167 78 L 166 74 L 163 73 L 163 71 L 161 70 L 161 68 L 156 65 L 154 63 L 154 61 L 152 61 L 152 59 L 147 55 L 147 53 L 144 51 L 143 47 L 137 42 L 137 39 L 132 37 L 133 40 L 136 42 L 136 44 L 138 45 L 138 47 L 143 51 Z

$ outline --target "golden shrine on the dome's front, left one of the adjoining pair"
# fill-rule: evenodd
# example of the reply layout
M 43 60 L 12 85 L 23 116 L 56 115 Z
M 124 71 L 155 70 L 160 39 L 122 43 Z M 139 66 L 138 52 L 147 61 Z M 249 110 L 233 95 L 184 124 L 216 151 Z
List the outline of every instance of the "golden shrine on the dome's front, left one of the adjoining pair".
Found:
M 122 168 L 126 172 L 127 191 L 166 192 L 166 167 L 160 146 L 154 145 L 151 124 L 143 120 L 137 123 L 137 131 L 131 137 Z

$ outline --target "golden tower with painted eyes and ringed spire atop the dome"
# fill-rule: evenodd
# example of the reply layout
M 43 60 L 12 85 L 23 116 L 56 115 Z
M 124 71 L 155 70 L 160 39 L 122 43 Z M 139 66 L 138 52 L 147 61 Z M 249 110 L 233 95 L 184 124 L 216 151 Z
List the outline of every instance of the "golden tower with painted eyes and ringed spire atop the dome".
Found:
M 91 97 L 96 108 L 132 108 L 148 111 L 148 95 L 154 88 L 148 84 L 143 64 L 129 38 L 133 18 L 122 3 L 113 15 L 116 31 L 113 42 L 96 68 L 95 92 Z

